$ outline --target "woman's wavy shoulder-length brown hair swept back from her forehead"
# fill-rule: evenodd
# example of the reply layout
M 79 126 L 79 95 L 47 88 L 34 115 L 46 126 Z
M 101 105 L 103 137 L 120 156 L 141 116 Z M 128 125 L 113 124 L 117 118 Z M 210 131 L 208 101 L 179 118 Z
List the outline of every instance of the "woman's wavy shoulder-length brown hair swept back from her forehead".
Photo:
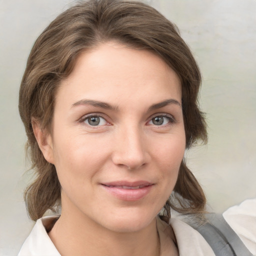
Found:
M 35 139 L 32 119 L 50 132 L 54 96 L 61 80 L 72 71 L 77 56 L 97 45 L 116 41 L 156 53 L 179 76 L 186 148 L 206 143 L 204 115 L 198 107 L 199 68 L 177 27 L 153 7 L 138 1 L 82 1 L 58 15 L 36 39 L 19 90 L 19 114 L 27 135 L 26 150 L 36 177 L 24 192 L 31 219 L 60 206 L 61 186 L 55 166 L 47 162 Z M 168 222 L 170 208 L 184 214 L 201 213 L 205 196 L 183 159 L 177 182 L 161 218 Z

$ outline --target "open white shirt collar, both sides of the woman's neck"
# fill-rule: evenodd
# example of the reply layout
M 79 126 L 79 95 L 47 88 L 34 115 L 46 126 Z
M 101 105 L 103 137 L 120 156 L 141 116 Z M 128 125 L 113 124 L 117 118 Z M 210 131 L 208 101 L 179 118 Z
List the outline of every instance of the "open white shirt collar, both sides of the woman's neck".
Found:
M 18 256 L 61 256 L 45 230 L 55 218 L 56 216 L 47 216 L 36 221 Z M 168 256 L 170 239 L 172 239 L 171 227 L 159 217 L 156 223 L 161 243 L 161 256 Z M 215 256 L 208 243 L 192 227 L 177 218 L 171 218 L 170 225 L 175 233 L 180 256 Z

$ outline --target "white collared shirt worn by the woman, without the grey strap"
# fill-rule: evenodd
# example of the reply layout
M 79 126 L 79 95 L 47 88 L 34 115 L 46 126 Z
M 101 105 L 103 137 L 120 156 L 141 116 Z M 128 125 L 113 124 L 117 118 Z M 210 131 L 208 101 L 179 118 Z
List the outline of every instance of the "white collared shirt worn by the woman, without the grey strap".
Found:
M 256 198 L 245 200 L 223 213 L 227 223 L 237 233 L 245 246 L 256 256 Z M 60 256 L 45 226 L 54 217 L 43 217 L 36 221 L 31 233 L 23 243 L 18 256 Z M 170 227 L 157 218 L 161 256 L 170 254 Z M 214 252 L 204 238 L 192 227 L 177 218 L 171 218 L 170 225 L 175 233 L 180 256 L 214 256 Z

